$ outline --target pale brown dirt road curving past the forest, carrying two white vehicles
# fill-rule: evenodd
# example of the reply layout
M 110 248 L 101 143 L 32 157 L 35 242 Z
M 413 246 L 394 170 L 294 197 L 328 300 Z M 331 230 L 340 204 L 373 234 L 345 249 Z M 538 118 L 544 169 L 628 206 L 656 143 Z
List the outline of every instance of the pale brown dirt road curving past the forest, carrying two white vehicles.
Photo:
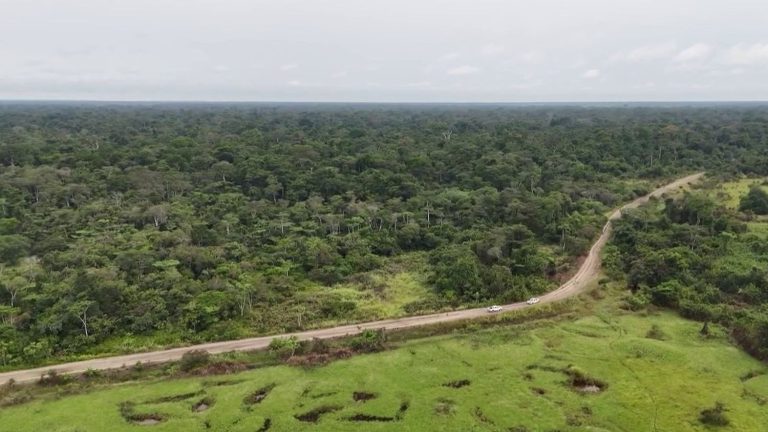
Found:
M 582 263 L 579 271 L 576 272 L 571 279 L 562 284 L 554 291 L 541 296 L 541 302 L 553 302 L 562 300 L 567 297 L 571 297 L 581 290 L 583 290 L 589 282 L 591 282 L 598 274 L 600 268 L 600 251 L 605 246 L 611 233 L 611 221 L 621 217 L 621 210 L 628 208 L 636 208 L 641 204 L 647 202 L 651 196 L 660 196 L 666 192 L 678 189 L 681 186 L 685 186 L 698 180 L 703 173 L 693 174 L 687 177 L 678 179 L 668 185 L 662 186 L 652 193 L 638 198 L 629 204 L 624 205 L 620 209 L 614 211 L 608 218 L 603 227 L 600 237 L 597 239 L 592 248 L 589 250 L 589 254 Z M 525 302 L 513 303 L 504 306 L 504 311 L 522 309 L 526 307 Z M 184 353 L 191 350 L 206 350 L 210 353 L 223 353 L 229 351 L 249 351 L 256 349 L 263 349 L 269 346 L 269 343 L 276 337 L 296 336 L 300 340 L 307 340 L 312 338 L 335 338 L 345 335 L 352 335 L 359 333 L 366 329 L 400 329 L 406 327 L 417 327 L 428 324 L 437 324 L 446 321 L 457 321 L 477 318 L 481 316 L 487 316 L 488 312 L 485 308 L 466 309 L 454 312 L 437 313 L 430 315 L 413 316 L 406 318 L 387 319 L 381 321 L 372 321 L 361 324 L 344 325 L 339 327 L 310 330 L 298 333 L 288 333 L 282 335 L 263 336 L 248 339 L 239 339 L 233 341 L 213 342 L 200 345 L 187 346 L 183 348 L 173 348 L 162 351 L 153 351 L 139 354 L 129 354 L 116 357 L 105 357 L 93 360 L 84 360 L 73 363 L 64 363 L 54 366 L 46 366 L 36 369 L 19 370 L 12 372 L 5 372 L 0 374 L 0 384 L 7 382 L 8 380 L 15 380 L 16 382 L 29 382 L 40 378 L 40 376 L 47 371 L 56 370 L 60 374 L 81 373 L 88 369 L 103 370 L 103 369 L 116 369 L 124 366 L 132 366 L 137 362 L 142 363 L 161 363 L 166 361 L 178 360 Z

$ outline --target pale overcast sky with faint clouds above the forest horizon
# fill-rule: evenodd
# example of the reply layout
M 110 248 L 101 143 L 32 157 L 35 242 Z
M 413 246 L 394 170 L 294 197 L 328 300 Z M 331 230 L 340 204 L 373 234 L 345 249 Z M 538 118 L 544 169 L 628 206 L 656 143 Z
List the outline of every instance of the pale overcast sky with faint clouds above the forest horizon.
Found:
M 0 0 L 0 99 L 768 100 L 767 0 Z

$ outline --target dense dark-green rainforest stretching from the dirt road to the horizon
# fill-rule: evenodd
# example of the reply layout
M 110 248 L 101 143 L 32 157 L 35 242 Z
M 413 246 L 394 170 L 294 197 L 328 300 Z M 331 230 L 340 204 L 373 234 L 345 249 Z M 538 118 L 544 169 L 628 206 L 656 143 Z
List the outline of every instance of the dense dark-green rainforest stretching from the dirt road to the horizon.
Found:
M 609 209 L 694 170 L 765 175 L 767 141 L 761 106 L 6 103 L 0 367 L 521 300 Z M 676 211 L 617 230 L 635 289 L 699 277 L 648 280 L 642 245 L 715 254 L 737 230 Z M 398 272 L 424 292 L 364 310 Z

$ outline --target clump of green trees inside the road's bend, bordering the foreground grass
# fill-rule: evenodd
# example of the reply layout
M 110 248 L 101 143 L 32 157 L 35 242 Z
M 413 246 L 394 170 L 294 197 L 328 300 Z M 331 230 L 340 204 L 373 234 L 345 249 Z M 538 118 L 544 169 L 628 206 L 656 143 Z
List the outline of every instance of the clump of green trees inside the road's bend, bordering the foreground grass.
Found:
M 742 208 L 753 192 L 742 199 Z M 616 222 L 605 266 L 625 273 L 628 306 L 652 303 L 688 318 L 718 322 L 768 360 L 768 241 L 748 231 L 749 216 L 707 191 L 627 212 Z

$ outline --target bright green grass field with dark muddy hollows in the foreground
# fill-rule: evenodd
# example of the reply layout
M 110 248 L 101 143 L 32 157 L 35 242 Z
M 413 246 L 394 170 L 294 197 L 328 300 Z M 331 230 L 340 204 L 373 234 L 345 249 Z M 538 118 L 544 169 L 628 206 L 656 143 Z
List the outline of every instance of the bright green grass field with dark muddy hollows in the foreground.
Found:
M 0 409 L 0 431 L 706 431 L 699 413 L 717 402 L 731 423 L 718 430 L 768 430 L 767 368 L 700 327 L 598 307 L 578 320 L 465 329 L 311 369 L 37 400 Z

